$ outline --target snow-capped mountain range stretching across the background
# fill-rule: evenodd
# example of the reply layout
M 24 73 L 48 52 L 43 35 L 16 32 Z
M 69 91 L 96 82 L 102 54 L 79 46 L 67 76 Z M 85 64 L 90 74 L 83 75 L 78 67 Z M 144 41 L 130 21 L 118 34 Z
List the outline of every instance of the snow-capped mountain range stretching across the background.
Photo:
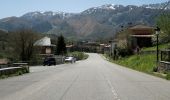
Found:
M 113 37 L 122 26 L 155 25 L 155 18 L 165 5 L 166 3 L 142 6 L 106 4 L 81 13 L 29 12 L 21 17 L 1 19 L 0 29 L 33 29 L 44 34 L 63 34 L 71 39 L 103 39 Z M 170 12 L 170 6 L 164 12 Z

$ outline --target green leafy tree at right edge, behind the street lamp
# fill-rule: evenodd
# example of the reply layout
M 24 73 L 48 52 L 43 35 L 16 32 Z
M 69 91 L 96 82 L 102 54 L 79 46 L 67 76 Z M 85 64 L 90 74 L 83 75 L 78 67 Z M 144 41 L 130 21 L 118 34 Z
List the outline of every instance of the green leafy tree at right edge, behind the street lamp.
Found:
M 170 41 L 170 13 L 163 14 L 158 17 L 157 25 L 160 27 L 162 33 L 160 34 L 162 42 Z

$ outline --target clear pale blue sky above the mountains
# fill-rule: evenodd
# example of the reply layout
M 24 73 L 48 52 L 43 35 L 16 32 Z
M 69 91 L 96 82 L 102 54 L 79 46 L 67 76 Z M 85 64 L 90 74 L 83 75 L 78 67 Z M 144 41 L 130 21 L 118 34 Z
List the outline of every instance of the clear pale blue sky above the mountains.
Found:
M 0 0 L 0 19 L 22 16 L 33 11 L 63 11 L 79 13 L 104 4 L 142 5 L 168 0 Z

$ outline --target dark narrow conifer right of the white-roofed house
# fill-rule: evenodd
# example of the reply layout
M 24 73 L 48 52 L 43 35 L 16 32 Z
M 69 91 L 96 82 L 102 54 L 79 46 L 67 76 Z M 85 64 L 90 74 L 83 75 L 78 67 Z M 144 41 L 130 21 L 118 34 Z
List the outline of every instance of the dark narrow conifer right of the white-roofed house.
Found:
M 66 44 L 64 37 L 60 35 L 57 40 L 57 46 L 56 46 L 56 55 L 64 55 L 66 54 Z

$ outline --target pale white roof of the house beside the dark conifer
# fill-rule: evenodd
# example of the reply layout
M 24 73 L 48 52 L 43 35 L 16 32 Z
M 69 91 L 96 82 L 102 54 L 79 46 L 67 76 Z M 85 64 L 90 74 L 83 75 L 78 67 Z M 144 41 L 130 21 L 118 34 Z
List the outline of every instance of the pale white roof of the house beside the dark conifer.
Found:
M 37 40 L 34 43 L 35 46 L 55 46 L 53 44 L 51 44 L 51 39 L 49 37 L 44 37 L 40 40 Z

